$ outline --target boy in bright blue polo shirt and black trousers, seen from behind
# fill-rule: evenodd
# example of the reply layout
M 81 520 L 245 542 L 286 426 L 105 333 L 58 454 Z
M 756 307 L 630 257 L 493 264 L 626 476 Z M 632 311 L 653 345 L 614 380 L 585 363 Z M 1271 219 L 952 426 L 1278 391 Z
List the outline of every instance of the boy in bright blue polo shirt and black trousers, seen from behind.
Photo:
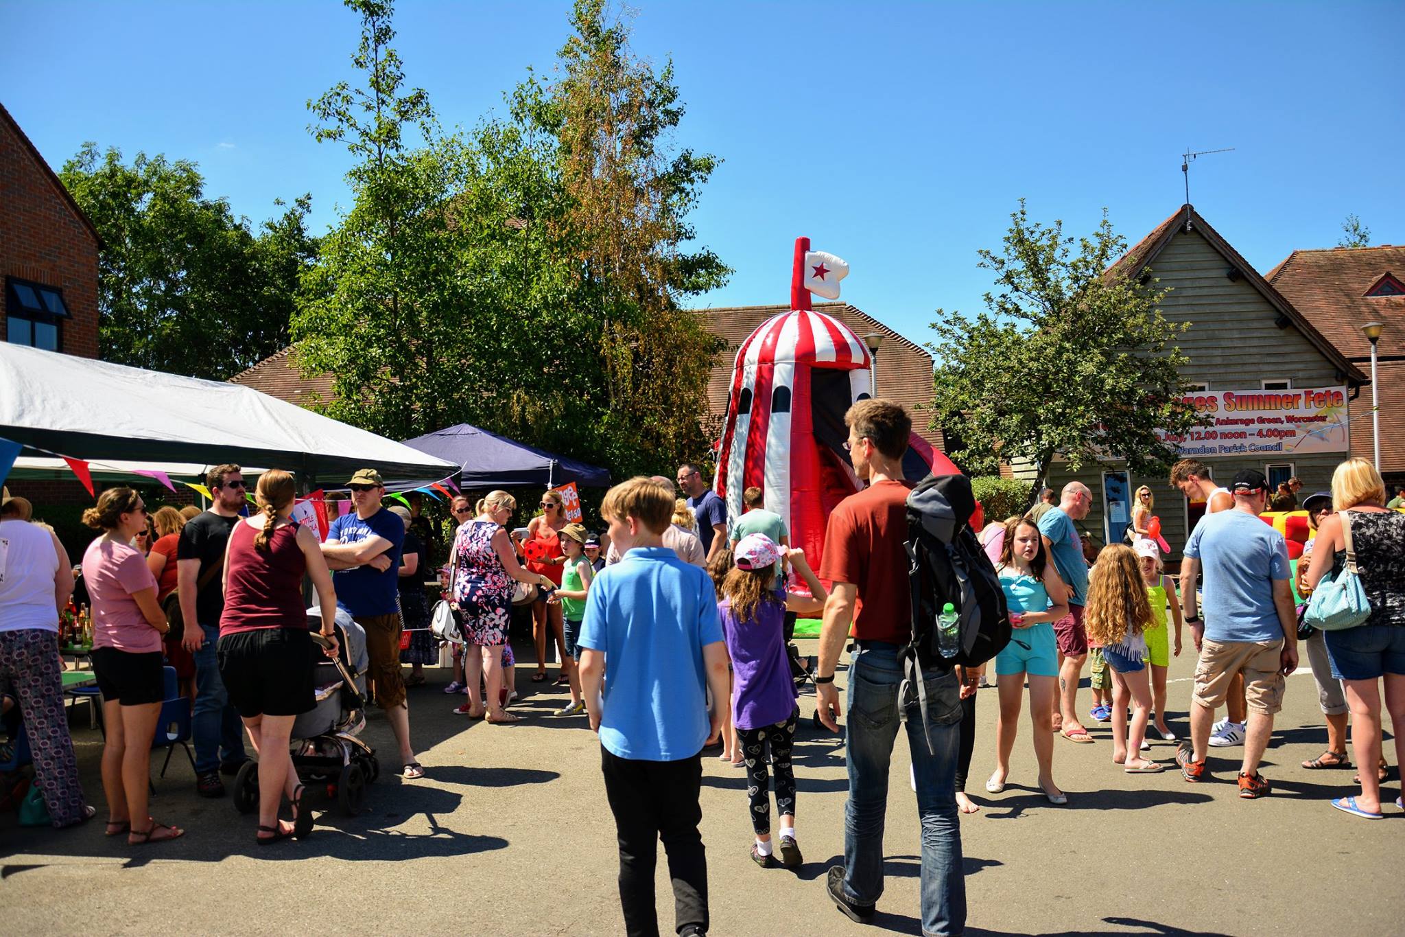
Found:
M 646 478 L 606 494 L 600 516 L 622 559 L 590 584 L 576 641 L 620 839 L 620 902 L 631 934 L 659 933 L 653 865 L 660 836 L 677 933 L 705 934 L 710 923 L 700 756 L 721 733 L 731 697 L 712 580 L 663 545 L 673 500 Z

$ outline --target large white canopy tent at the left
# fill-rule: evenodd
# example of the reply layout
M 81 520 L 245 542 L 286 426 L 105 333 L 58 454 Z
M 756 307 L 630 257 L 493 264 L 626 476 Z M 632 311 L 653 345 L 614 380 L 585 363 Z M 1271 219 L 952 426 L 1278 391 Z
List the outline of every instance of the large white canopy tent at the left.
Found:
M 0 437 L 25 447 L 15 478 L 53 471 L 42 459 L 51 454 L 114 468 L 174 468 L 173 478 L 221 462 L 263 465 L 294 472 L 308 487 L 340 486 L 360 468 L 423 483 L 459 471 L 237 384 L 8 343 L 0 343 Z M 110 473 L 94 466 L 94 476 Z

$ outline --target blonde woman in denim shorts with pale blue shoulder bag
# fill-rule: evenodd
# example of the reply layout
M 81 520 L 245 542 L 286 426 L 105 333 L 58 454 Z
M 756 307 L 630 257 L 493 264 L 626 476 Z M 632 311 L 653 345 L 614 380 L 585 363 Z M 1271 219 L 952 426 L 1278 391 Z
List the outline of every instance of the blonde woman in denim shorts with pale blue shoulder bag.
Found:
M 1405 757 L 1405 514 L 1390 511 L 1385 482 L 1361 458 L 1347 459 L 1332 473 L 1332 507 L 1322 518 L 1312 546 L 1312 566 L 1304 582 L 1316 589 L 1331 570 L 1346 569 L 1346 525 L 1350 525 L 1357 575 L 1371 604 L 1371 615 L 1356 628 L 1329 631 L 1326 652 L 1332 676 L 1346 684 L 1352 708 L 1352 750 L 1361 792 L 1332 801 L 1356 816 L 1380 819 L 1381 778 L 1371 766 L 1381 763 L 1381 690 L 1395 732 L 1397 761 Z M 1401 806 L 1399 798 L 1395 806 Z

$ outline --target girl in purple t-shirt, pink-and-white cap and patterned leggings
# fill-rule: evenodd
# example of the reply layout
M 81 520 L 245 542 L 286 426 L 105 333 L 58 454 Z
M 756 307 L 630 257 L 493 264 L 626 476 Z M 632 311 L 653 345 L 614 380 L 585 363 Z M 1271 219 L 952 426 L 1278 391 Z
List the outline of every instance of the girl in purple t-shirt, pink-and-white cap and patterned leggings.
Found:
M 808 596 L 785 591 L 785 583 L 776 582 L 781 558 L 788 559 L 805 580 Z M 764 757 L 770 746 L 776 768 L 776 812 L 781 818 L 780 860 L 787 868 L 797 868 L 801 856 L 795 846 L 791 746 L 799 709 L 783 628 L 787 611 L 816 614 L 825 607 L 828 593 L 805 562 L 805 551 L 781 549 L 764 534 L 749 534 L 738 541 L 735 562 L 736 568 L 722 580 L 718 612 L 735 676 L 732 718 L 746 759 L 746 792 L 756 830 L 752 860 L 763 868 L 771 861 L 770 778 Z

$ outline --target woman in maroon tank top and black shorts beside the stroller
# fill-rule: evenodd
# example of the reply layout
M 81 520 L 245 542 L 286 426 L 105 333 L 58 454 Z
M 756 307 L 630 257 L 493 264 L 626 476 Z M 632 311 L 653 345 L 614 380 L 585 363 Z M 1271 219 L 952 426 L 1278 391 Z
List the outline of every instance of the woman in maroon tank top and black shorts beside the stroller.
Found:
M 292 518 L 292 476 L 270 469 L 259 478 L 259 514 L 229 532 L 225 552 L 225 612 L 219 618 L 219 676 L 259 753 L 259 844 L 312 832 L 312 811 L 288 756 L 294 719 L 312 709 L 312 635 L 302 607 L 302 577 L 312 577 L 322 607 L 322 634 L 337 653 L 337 596 L 318 535 Z M 294 823 L 278 819 L 282 795 Z

